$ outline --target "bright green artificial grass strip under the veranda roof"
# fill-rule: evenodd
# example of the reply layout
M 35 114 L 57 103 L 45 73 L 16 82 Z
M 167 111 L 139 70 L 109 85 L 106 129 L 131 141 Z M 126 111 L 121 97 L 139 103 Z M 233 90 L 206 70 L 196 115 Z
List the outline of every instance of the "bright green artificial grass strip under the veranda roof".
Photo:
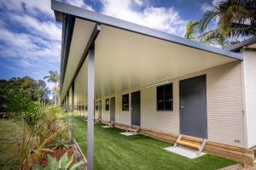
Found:
M 75 117 L 75 139 L 86 155 L 87 122 Z M 117 128 L 95 124 L 94 169 L 219 169 L 236 164 L 218 156 L 201 156 L 195 160 L 177 156 L 163 148 L 171 144 L 143 135 L 124 136 Z

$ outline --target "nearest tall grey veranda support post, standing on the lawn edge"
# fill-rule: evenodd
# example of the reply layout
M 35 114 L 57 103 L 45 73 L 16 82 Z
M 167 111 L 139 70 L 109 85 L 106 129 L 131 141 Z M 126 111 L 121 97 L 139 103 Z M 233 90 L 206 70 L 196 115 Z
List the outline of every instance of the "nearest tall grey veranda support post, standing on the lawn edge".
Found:
M 88 54 L 88 124 L 87 124 L 87 169 L 93 170 L 94 149 L 94 80 L 95 80 L 95 48 L 92 45 Z

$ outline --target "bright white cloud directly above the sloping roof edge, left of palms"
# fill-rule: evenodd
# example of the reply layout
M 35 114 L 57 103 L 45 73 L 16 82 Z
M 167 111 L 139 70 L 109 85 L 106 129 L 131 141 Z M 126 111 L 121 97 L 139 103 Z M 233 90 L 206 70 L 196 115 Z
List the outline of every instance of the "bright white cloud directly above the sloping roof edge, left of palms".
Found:
M 178 36 L 184 35 L 187 21 L 180 17 L 175 8 L 156 8 L 146 5 L 142 0 L 100 1 L 103 14 Z

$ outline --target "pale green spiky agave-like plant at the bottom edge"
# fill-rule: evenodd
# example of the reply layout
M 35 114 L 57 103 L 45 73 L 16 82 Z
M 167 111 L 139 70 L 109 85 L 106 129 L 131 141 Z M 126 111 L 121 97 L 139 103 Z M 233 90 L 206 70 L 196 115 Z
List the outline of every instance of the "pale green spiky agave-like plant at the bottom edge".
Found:
M 41 167 L 38 164 L 32 164 L 32 168 L 35 170 L 76 170 L 80 169 L 81 165 L 84 161 L 79 161 L 77 163 L 73 163 L 73 156 L 68 158 L 67 152 L 61 156 L 61 159 L 57 161 L 55 157 L 49 156 L 47 157 L 48 165 L 47 167 Z

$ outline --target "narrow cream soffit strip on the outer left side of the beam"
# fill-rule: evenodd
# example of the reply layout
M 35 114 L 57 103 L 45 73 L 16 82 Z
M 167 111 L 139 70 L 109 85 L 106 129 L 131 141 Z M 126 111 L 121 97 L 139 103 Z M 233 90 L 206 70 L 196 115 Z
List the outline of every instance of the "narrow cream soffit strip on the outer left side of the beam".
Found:
M 73 75 L 79 64 L 79 60 L 84 53 L 84 48 L 90 38 L 90 34 L 96 24 L 87 20 L 76 19 L 73 28 L 73 37 L 70 51 L 67 59 L 67 69 L 61 90 L 61 95 L 66 94 L 69 83 L 72 81 Z M 64 97 L 64 96 L 61 96 Z

